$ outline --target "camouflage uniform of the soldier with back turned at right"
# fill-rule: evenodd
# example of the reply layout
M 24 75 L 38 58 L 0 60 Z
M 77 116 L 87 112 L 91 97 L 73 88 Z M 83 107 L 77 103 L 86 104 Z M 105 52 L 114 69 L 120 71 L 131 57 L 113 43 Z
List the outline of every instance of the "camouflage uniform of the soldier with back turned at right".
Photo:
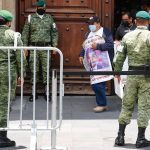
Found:
M 118 53 L 115 71 L 121 71 L 128 55 L 129 66 L 145 66 L 150 64 L 150 32 L 147 27 L 138 26 L 133 32 L 126 34 L 122 40 L 122 51 Z M 129 124 L 138 97 L 138 127 L 147 127 L 150 118 L 150 77 L 144 75 L 128 76 L 120 124 Z

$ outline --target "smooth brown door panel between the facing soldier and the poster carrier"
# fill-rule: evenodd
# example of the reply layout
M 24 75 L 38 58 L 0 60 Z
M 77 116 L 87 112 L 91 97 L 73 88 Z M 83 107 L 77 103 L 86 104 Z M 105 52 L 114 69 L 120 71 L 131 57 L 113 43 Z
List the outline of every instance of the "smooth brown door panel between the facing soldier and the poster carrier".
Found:
M 64 54 L 64 66 L 81 67 L 78 57 L 85 32 L 87 31 L 85 23 L 58 22 L 57 26 L 60 29 L 59 47 Z

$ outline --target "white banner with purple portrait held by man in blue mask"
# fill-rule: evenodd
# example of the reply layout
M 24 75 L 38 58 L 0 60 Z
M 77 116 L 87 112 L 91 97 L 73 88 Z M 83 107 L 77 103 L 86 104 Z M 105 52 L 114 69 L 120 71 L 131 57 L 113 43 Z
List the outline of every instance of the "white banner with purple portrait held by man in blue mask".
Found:
M 89 36 L 83 43 L 85 50 L 83 64 L 87 71 L 112 71 L 108 51 L 93 50 L 92 43 L 99 44 L 105 43 L 102 36 L 92 35 Z M 105 82 L 111 80 L 112 75 L 92 75 L 90 76 L 91 84 Z

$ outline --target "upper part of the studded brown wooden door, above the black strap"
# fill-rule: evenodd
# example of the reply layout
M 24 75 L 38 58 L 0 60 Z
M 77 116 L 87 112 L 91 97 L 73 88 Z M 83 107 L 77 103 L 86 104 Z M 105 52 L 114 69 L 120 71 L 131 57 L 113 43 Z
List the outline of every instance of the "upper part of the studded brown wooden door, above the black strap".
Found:
M 36 0 L 18 0 L 18 30 L 22 31 L 28 14 L 35 12 Z M 102 24 L 112 28 L 113 0 L 46 0 L 47 13 L 51 14 L 59 31 L 58 48 L 64 54 L 65 69 L 82 69 L 78 57 L 87 32 L 86 21 L 98 15 Z M 54 56 L 53 66 L 59 65 L 59 57 Z

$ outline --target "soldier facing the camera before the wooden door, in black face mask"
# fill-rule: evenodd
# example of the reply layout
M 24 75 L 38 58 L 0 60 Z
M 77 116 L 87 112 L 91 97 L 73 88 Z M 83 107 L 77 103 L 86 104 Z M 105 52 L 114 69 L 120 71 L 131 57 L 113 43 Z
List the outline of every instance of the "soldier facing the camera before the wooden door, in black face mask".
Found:
M 36 3 L 36 13 L 29 15 L 25 23 L 22 40 L 24 46 L 53 46 L 56 47 L 58 43 L 58 32 L 56 24 L 52 16 L 45 14 L 46 3 L 44 0 L 39 0 Z M 33 51 L 30 51 L 30 69 L 31 69 L 31 80 L 33 81 Z M 43 83 L 46 87 L 47 80 L 47 52 L 37 51 L 37 72 L 39 72 L 39 64 L 42 66 Z M 45 99 L 46 90 L 44 94 Z M 38 98 L 36 94 L 36 99 Z M 33 101 L 33 94 L 30 96 L 29 101 Z

